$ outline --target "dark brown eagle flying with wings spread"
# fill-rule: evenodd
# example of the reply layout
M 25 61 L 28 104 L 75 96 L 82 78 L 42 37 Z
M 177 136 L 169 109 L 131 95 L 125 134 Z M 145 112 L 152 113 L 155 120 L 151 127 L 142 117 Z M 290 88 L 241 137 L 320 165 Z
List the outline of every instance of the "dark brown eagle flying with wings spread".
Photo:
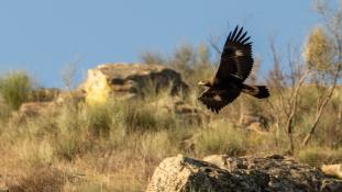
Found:
M 241 92 L 258 99 L 268 98 L 266 86 L 250 86 L 244 81 L 253 67 L 252 42 L 243 27 L 235 27 L 227 37 L 219 69 L 212 80 L 200 81 L 208 89 L 198 98 L 214 113 L 234 101 Z

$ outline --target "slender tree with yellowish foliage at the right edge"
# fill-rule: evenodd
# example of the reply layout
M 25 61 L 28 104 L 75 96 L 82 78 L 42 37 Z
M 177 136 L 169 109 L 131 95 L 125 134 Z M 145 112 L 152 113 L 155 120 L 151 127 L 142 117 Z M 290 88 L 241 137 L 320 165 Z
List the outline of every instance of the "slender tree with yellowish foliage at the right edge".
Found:
M 311 31 L 305 50 L 305 58 L 312 71 L 311 80 L 319 97 L 316 102 L 315 120 L 302 140 L 302 146 L 310 142 L 327 104 L 335 90 L 342 69 L 342 9 L 330 9 L 327 0 L 315 3 L 316 11 L 324 20 L 324 27 Z

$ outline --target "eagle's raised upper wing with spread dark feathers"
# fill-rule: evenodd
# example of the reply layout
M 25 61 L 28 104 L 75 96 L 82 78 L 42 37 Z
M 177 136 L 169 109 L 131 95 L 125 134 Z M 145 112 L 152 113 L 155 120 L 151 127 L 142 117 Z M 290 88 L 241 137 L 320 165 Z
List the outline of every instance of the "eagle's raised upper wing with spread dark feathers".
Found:
M 243 33 L 243 27 L 235 27 L 229 33 L 225 41 L 221 61 L 216 78 L 224 80 L 231 75 L 239 77 L 244 81 L 251 74 L 253 67 L 252 42 L 247 32 Z

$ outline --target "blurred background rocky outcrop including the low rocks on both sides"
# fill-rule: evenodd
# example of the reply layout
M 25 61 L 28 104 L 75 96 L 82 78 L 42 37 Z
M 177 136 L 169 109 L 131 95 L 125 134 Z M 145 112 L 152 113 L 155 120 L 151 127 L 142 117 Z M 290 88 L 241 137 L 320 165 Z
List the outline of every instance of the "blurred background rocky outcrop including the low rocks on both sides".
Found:
M 166 113 L 181 116 L 181 121 L 197 124 L 203 121 L 206 114 L 178 95 L 188 90 L 180 74 L 164 66 L 141 64 L 106 64 L 89 69 L 87 79 L 73 91 L 37 89 L 33 92 L 34 100 L 23 103 L 12 116 L 14 122 L 22 122 L 51 110 L 58 112 L 58 106 L 62 105 L 82 101 L 100 104 L 109 98 L 132 99 L 146 93 L 159 95 L 155 93 L 161 93 L 161 90 L 165 90 L 163 97 L 155 97 L 157 101 L 154 100 L 151 104 Z

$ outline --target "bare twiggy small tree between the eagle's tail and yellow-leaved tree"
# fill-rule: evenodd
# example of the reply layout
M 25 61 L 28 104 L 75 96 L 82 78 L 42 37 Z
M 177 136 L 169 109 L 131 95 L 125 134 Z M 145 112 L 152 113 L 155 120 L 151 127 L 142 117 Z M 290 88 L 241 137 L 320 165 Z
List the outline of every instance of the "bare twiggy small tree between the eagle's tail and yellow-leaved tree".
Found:
M 294 48 L 288 47 L 288 69 L 280 68 L 282 60 L 275 48 L 274 41 L 271 41 L 271 50 L 273 54 L 273 69 L 269 71 L 267 83 L 272 92 L 276 97 L 275 100 L 268 102 L 271 116 L 274 118 L 277 131 L 284 127 L 289 140 L 288 153 L 295 150 L 294 131 L 296 127 L 296 118 L 298 116 L 298 105 L 300 102 L 299 92 L 302 88 L 305 79 L 309 75 L 309 70 L 295 55 Z M 294 59 L 296 58 L 296 59 Z

